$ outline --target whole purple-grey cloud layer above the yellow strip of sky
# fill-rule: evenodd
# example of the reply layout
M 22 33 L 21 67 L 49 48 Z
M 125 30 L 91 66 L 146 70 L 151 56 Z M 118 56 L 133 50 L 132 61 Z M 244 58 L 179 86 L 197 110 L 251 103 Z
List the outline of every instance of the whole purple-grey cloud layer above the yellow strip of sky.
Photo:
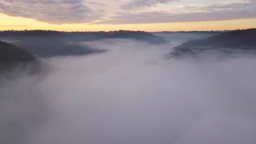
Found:
M 168 4 L 171 2 L 181 5 Z M 255 0 L 189 4 L 182 0 L 3 0 L 0 13 L 54 24 L 195 22 L 256 17 Z

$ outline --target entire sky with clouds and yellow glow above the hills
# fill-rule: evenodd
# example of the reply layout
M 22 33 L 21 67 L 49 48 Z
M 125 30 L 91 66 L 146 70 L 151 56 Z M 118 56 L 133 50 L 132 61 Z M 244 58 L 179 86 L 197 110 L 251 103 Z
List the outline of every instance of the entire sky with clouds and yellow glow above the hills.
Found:
M 0 30 L 194 31 L 256 27 L 256 0 L 1 0 Z

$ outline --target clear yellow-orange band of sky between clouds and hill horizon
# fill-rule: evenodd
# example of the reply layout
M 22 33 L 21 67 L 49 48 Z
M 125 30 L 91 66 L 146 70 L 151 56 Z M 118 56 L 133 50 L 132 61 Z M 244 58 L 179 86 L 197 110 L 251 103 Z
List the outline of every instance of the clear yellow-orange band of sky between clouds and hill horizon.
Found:
M 256 19 L 205 21 L 205 22 L 173 22 L 173 23 L 150 23 L 150 24 L 127 24 L 127 25 L 90 25 L 90 24 L 64 24 L 54 25 L 39 22 L 23 17 L 13 17 L 0 14 L 0 30 L 24 30 L 24 29 L 50 29 L 56 31 L 115 31 L 119 29 L 141 31 L 205 31 L 224 29 L 255 28 Z

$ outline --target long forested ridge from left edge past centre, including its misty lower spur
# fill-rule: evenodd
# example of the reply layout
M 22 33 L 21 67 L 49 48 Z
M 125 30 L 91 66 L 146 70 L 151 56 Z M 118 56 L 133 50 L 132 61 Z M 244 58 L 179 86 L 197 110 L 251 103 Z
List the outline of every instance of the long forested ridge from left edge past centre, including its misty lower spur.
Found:
M 59 32 L 59 31 L 1 31 L 0 39 L 16 41 L 14 45 L 39 57 L 85 55 L 104 52 L 80 41 L 101 39 L 135 39 L 148 43 L 166 43 L 167 40 L 142 31 L 110 31 L 110 32 Z

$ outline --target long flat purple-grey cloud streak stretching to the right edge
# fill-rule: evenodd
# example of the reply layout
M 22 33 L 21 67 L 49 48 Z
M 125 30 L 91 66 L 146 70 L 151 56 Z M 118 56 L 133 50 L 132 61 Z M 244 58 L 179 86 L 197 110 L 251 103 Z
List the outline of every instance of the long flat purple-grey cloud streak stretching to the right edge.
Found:
M 256 18 L 256 4 L 233 3 L 214 4 L 204 7 L 190 5 L 183 7 L 183 13 L 169 11 L 142 11 L 138 13 L 118 13 L 110 19 L 99 23 L 127 24 L 127 23 L 162 23 L 162 22 L 197 22 L 220 21 Z

